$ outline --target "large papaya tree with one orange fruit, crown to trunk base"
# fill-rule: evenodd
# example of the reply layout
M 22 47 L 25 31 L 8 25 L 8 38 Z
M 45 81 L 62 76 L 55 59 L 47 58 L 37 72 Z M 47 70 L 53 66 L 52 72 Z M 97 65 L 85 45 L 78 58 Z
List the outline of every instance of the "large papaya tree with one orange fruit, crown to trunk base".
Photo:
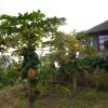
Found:
M 40 11 L 18 14 L 18 16 L 0 16 L 0 35 L 3 39 L 1 46 L 13 48 L 14 53 L 23 56 L 21 77 L 26 80 L 27 108 L 33 108 L 33 86 L 38 80 L 40 59 L 36 48 L 41 46 L 42 39 L 53 37 L 65 18 L 46 17 Z

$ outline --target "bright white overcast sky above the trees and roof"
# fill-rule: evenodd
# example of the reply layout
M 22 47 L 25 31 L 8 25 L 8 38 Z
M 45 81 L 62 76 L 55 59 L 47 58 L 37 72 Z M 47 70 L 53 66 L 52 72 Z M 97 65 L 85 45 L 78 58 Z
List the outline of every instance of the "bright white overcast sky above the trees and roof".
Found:
M 108 0 L 0 0 L 0 14 L 41 10 L 46 16 L 67 18 L 67 32 L 89 29 L 108 19 Z

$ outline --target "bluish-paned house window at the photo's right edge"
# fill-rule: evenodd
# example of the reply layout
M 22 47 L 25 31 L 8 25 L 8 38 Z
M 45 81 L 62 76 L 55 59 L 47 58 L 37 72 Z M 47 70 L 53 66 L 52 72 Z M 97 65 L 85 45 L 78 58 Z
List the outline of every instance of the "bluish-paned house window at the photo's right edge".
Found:
M 108 50 L 108 35 L 98 36 L 98 41 L 100 52 Z

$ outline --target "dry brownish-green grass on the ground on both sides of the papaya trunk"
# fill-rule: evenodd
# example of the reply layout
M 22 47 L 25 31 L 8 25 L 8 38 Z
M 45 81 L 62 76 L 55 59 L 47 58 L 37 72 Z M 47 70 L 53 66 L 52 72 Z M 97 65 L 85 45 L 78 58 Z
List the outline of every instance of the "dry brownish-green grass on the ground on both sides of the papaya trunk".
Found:
M 0 108 L 26 108 L 22 85 L 8 86 L 0 91 Z M 56 92 L 36 99 L 35 108 L 108 108 L 108 93 L 89 90 L 77 94 Z

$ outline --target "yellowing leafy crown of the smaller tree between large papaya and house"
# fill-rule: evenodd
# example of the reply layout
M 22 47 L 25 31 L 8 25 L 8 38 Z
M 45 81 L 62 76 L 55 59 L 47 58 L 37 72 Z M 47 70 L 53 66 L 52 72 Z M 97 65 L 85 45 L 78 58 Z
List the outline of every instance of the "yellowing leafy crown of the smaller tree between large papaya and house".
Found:
M 75 36 L 66 35 L 64 32 L 57 32 L 51 41 L 45 42 L 50 50 L 50 59 L 58 63 L 59 71 L 67 71 L 67 65 L 71 60 L 71 56 L 81 50 L 80 42 Z

